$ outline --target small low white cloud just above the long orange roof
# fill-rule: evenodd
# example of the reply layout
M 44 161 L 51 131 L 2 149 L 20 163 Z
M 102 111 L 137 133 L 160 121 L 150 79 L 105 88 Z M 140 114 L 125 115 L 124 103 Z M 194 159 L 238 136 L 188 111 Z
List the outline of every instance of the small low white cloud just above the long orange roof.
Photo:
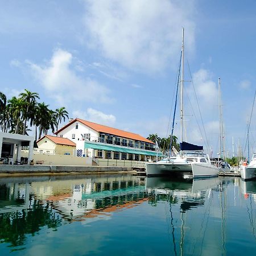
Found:
M 113 126 L 115 124 L 115 116 L 112 114 L 105 114 L 98 110 L 88 108 L 86 112 L 75 110 L 72 112 L 74 118 L 86 119 L 90 122 L 100 123 L 101 125 Z

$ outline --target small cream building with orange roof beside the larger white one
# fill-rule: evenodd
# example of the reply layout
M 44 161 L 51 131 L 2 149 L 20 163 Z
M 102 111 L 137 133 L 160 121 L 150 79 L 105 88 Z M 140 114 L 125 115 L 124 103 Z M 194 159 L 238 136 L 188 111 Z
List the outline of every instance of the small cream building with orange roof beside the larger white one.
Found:
M 44 135 L 37 142 L 39 152 L 44 154 L 73 155 L 76 143 L 67 138 Z

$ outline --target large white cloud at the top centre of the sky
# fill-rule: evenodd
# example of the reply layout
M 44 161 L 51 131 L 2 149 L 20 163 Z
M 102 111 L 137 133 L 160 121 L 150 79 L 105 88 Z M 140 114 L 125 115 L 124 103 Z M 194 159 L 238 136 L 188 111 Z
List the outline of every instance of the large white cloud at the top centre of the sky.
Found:
M 181 46 L 193 47 L 194 1 L 85 0 L 85 27 L 89 45 L 125 67 L 162 71 Z

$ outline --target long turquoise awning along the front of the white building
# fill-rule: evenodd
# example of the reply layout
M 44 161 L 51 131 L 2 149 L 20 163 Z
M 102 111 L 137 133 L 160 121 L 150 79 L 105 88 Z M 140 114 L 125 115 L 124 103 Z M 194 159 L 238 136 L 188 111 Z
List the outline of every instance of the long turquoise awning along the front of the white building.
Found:
M 116 146 L 109 146 L 105 144 L 90 143 L 90 142 L 85 142 L 84 148 L 93 148 L 97 150 L 109 150 L 109 151 L 122 152 L 122 153 L 128 153 L 128 154 L 156 156 L 155 151 L 152 152 L 147 150 L 135 150 L 134 148 L 116 147 Z M 158 156 L 162 156 L 162 153 L 158 153 Z

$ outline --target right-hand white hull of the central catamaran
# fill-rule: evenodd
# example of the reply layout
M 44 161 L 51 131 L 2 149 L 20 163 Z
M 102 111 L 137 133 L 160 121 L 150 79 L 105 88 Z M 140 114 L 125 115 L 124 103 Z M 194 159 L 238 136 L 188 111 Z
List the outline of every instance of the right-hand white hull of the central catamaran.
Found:
M 212 164 L 191 163 L 193 177 L 214 177 L 218 176 L 220 169 Z

